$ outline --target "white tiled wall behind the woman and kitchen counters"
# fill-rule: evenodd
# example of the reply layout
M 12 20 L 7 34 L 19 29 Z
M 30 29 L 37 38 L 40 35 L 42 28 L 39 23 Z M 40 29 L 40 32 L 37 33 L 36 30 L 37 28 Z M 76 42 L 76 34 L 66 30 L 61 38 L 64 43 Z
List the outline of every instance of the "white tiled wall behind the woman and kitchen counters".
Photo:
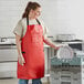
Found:
M 0 0 L 0 36 L 13 36 L 13 29 L 29 0 Z M 42 15 L 49 35 L 76 34 L 84 39 L 83 0 L 31 0 L 42 6 Z

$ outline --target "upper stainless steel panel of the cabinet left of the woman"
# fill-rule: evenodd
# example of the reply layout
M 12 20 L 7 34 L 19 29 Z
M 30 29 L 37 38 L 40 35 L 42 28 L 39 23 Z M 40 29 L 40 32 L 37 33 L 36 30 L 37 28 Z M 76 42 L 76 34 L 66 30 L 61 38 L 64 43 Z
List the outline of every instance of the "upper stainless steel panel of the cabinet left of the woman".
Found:
M 15 45 L 0 45 L 0 62 L 18 61 Z

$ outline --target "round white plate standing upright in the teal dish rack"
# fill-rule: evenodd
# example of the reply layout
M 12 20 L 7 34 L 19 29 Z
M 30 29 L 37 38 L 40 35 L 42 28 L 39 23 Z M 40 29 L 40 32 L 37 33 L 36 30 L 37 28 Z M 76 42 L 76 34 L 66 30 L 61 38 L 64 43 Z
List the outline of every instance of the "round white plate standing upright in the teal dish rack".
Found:
M 57 59 L 72 59 L 73 55 L 73 50 L 70 46 L 62 46 L 56 53 Z

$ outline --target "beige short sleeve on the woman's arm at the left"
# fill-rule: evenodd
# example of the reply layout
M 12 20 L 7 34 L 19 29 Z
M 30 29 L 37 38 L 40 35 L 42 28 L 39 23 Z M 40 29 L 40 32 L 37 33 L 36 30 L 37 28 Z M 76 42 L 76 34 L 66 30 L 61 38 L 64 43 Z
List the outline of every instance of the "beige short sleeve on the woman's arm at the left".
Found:
M 19 20 L 18 24 L 15 25 L 15 28 L 14 28 L 14 30 L 13 30 L 13 33 L 22 36 L 22 34 L 23 34 L 23 33 L 22 33 L 22 31 L 23 31 L 22 28 L 23 28 L 23 27 L 22 27 L 22 21 Z

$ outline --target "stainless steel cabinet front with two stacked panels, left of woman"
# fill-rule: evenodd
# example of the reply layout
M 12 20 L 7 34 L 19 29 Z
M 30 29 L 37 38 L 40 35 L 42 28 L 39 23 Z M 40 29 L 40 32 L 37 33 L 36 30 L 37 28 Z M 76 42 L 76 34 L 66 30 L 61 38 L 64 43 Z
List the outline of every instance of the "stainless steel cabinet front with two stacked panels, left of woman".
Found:
M 0 78 L 17 76 L 17 46 L 11 43 L 0 44 Z

